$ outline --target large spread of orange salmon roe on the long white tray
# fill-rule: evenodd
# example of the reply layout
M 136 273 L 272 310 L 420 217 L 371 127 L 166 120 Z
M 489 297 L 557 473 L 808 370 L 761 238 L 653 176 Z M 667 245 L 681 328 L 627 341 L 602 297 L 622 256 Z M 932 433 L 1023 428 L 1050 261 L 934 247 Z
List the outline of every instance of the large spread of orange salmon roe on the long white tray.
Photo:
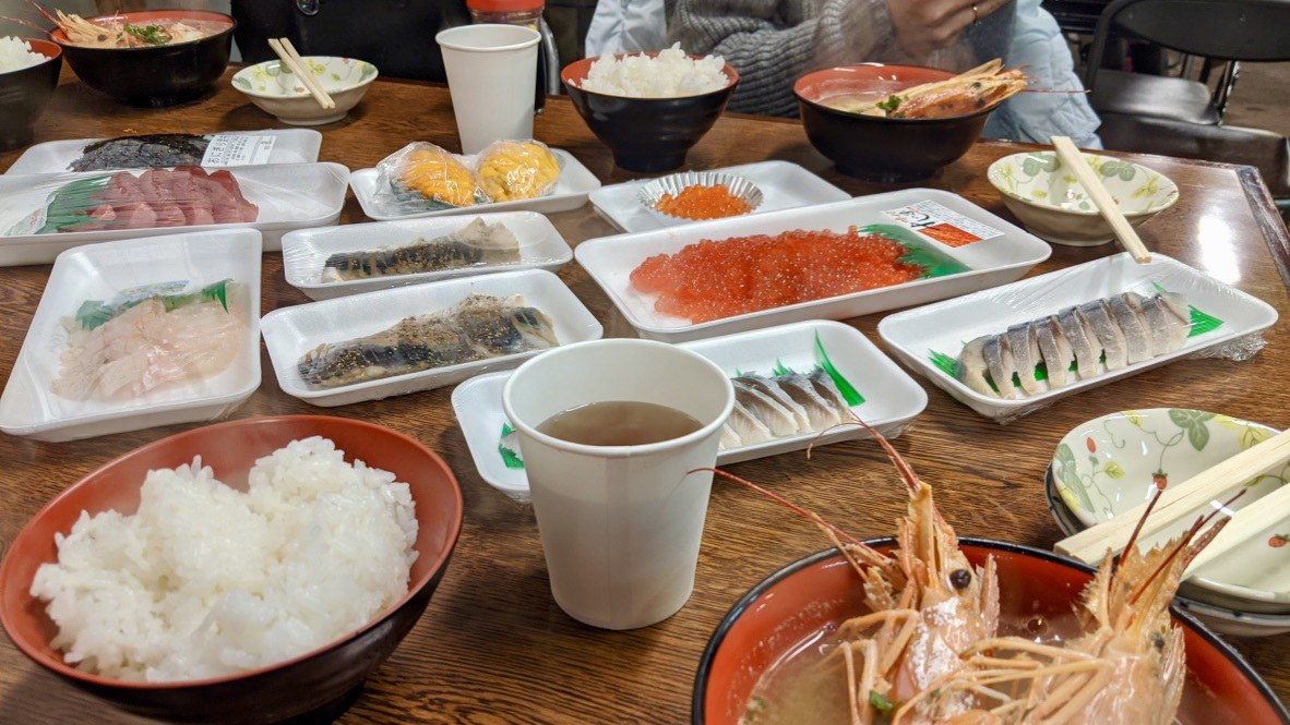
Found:
M 902 261 L 907 251 L 855 227 L 845 234 L 797 229 L 703 240 L 646 259 L 632 270 L 631 282 L 642 294 L 658 295 L 657 312 L 708 322 L 912 282 L 926 269 Z

